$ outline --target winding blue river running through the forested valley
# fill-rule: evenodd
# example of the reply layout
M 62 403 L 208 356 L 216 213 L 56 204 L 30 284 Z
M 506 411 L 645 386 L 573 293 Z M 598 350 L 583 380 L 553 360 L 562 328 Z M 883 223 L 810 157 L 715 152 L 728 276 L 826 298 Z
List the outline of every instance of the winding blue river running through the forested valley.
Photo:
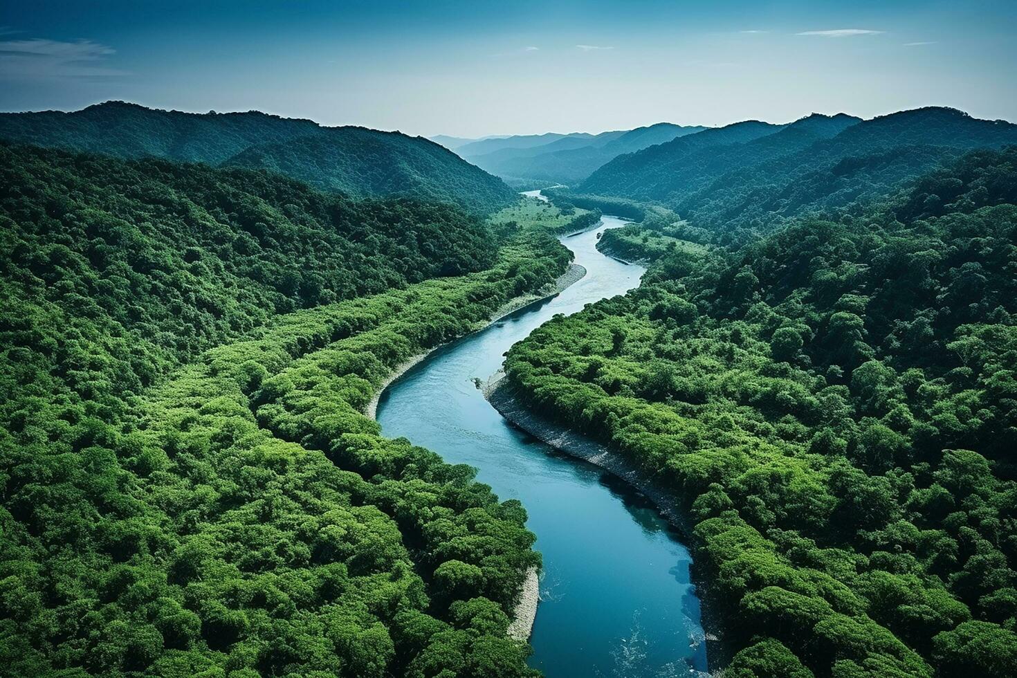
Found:
M 530 192 L 543 198 L 539 191 Z M 644 269 L 597 251 L 614 217 L 561 242 L 587 274 L 556 297 L 528 306 L 432 353 L 381 395 L 386 436 L 406 436 L 526 507 L 543 554 L 541 603 L 530 665 L 549 678 L 689 676 L 707 670 L 691 558 L 641 494 L 510 426 L 484 399 L 486 379 L 508 348 L 556 313 L 639 285 Z

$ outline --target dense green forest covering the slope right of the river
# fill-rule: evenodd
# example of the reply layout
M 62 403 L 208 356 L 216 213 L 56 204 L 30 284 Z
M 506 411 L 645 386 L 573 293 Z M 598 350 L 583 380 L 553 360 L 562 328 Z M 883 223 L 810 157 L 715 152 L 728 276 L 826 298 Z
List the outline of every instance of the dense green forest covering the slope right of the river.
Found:
M 975 151 L 738 248 L 646 247 L 638 290 L 508 353 L 521 399 L 684 506 L 725 676 L 1014 675 L 1015 229 L 1017 149 Z

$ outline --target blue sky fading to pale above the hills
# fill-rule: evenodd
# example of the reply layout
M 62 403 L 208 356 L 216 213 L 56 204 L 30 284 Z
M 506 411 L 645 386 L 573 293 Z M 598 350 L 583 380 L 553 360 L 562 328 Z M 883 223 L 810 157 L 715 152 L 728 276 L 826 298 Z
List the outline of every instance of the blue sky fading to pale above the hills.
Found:
M 1017 0 L 0 0 L 0 110 L 464 137 L 934 105 L 1017 121 L 1015 33 Z

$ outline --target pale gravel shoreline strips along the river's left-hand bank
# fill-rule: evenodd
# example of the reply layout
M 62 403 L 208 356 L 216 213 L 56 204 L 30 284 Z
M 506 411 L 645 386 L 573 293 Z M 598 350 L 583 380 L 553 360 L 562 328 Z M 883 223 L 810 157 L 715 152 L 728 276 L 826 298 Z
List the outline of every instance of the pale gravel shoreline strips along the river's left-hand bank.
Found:
M 553 283 L 537 291 L 535 294 L 523 295 L 521 297 L 516 297 L 507 301 L 501 308 L 494 312 L 491 319 L 484 323 L 483 326 L 478 327 L 474 331 L 480 331 L 484 327 L 488 327 L 491 324 L 497 322 L 506 315 L 511 315 L 516 311 L 526 308 L 530 304 L 535 304 L 539 301 L 543 301 L 557 294 L 560 294 L 565 288 L 579 282 L 584 275 L 586 275 L 586 268 L 579 265 L 578 263 L 569 264 L 569 268 L 561 275 L 557 278 Z M 472 333 L 472 332 L 471 332 Z M 462 338 L 462 337 L 459 337 Z M 458 340 L 454 340 L 458 341 Z M 406 374 L 410 369 L 412 369 L 417 363 L 421 362 L 427 356 L 431 355 L 438 349 L 440 349 L 444 344 L 438 345 L 429 351 L 426 351 L 420 355 L 410 358 L 406 362 L 398 365 L 392 374 L 385 378 L 384 381 L 377 387 L 374 391 L 371 402 L 367 404 L 364 408 L 364 414 L 371 419 L 377 419 L 378 402 L 381 398 L 381 393 L 387 388 L 394 381 L 399 379 L 401 376 Z M 513 610 L 513 621 L 508 626 L 508 637 L 526 642 L 530 638 L 530 634 L 533 632 L 533 621 L 537 616 L 537 604 L 540 603 L 540 578 L 539 572 L 536 567 L 531 567 L 526 572 L 526 578 L 523 580 L 523 585 L 520 589 L 520 600 L 516 604 L 516 608 Z

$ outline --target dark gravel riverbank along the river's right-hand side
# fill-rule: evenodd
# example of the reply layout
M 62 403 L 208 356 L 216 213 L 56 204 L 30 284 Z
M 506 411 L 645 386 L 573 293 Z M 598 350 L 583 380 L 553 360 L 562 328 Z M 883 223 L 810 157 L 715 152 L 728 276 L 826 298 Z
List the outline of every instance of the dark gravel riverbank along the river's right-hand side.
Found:
M 495 372 L 483 385 L 483 393 L 505 421 L 551 447 L 588 461 L 636 488 L 653 502 L 684 541 L 691 543 L 693 525 L 670 492 L 608 446 L 527 409 L 512 393 L 503 377 L 502 371 Z M 697 596 L 702 602 L 701 624 L 707 646 L 707 663 L 712 673 L 728 664 L 730 650 L 723 639 L 719 620 L 710 613 L 710 606 L 707 605 L 709 595 L 706 582 L 696 575 L 695 568 L 693 583 L 696 584 Z

